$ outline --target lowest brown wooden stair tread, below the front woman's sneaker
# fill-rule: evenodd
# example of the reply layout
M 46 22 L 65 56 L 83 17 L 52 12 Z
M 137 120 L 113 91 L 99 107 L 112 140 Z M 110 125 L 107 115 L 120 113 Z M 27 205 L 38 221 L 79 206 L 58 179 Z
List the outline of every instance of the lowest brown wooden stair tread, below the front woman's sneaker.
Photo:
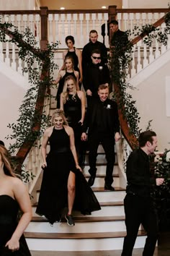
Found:
M 24 232 L 26 238 L 32 239 L 104 239 L 125 237 L 125 231 L 96 233 L 40 233 Z M 138 236 L 146 236 L 145 231 L 138 231 Z

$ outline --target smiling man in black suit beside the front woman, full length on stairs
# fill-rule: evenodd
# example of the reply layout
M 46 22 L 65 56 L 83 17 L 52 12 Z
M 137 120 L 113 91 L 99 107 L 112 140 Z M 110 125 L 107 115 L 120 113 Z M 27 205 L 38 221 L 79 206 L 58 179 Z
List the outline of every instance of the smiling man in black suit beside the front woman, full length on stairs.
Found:
M 104 189 L 115 190 L 112 187 L 112 171 L 115 164 L 115 141 L 120 140 L 120 122 L 118 118 L 117 103 L 109 100 L 107 85 L 99 85 L 99 98 L 94 99 L 87 108 L 81 140 L 86 140 L 86 129 L 89 127 L 89 186 L 94 184 L 97 168 L 97 148 L 101 142 L 107 159 L 107 169 Z

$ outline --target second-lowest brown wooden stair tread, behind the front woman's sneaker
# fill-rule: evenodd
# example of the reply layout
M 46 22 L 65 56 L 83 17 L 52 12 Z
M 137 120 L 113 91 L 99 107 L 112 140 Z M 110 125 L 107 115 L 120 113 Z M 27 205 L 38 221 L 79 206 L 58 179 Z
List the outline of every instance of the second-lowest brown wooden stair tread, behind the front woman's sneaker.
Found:
M 125 221 L 125 216 L 74 216 L 73 217 L 75 222 L 102 222 L 102 221 Z M 35 216 L 32 217 L 32 221 L 35 222 L 48 222 L 45 217 Z M 65 218 L 62 218 L 62 223 L 66 222 Z

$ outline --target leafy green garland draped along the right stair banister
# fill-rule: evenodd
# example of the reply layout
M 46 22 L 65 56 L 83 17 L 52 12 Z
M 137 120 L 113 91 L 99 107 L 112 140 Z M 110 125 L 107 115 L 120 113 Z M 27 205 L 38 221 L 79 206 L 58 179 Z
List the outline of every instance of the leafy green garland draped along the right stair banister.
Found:
M 170 12 L 165 15 L 164 22 L 164 31 L 162 31 L 161 27 L 143 25 L 141 28 L 134 27 L 133 30 L 127 30 L 125 33 L 128 35 L 128 38 L 140 35 L 140 38 L 143 38 L 143 43 L 146 43 L 146 46 L 148 47 L 152 46 L 153 39 L 166 46 L 169 39 L 168 35 L 170 34 Z M 120 40 L 119 43 L 110 48 L 109 65 L 112 74 L 112 81 L 119 88 L 118 92 L 115 93 L 115 98 L 119 103 L 118 107 L 121 109 L 124 119 L 127 119 L 128 121 L 130 134 L 138 137 L 140 133 L 140 116 L 135 106 L 136 101 L 134 101 L 132 95 L 127 92 L 128 89 L 134 90 L 130 83 L 127 82 L 128 69 L 132 61 L 132 54 L 133 40 L 129 40 L 126 46 L 125 42 Z

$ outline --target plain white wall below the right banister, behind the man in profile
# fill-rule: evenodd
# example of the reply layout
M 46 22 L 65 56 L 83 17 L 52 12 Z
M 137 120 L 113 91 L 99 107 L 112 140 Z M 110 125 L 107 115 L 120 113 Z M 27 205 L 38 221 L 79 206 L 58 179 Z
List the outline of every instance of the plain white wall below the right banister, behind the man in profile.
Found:
M 140 114 L 140 128 L 145 130 L 148 121 L 158 136 L 158 150 L 170 149 L 170 116 L 167 114 L 166 88 L 169 77 L 170 61 L 163 67 L 156 70 L 150 77 L 137 85 L 137 90 L 131 94 L 136 101 L 136 106 Z

